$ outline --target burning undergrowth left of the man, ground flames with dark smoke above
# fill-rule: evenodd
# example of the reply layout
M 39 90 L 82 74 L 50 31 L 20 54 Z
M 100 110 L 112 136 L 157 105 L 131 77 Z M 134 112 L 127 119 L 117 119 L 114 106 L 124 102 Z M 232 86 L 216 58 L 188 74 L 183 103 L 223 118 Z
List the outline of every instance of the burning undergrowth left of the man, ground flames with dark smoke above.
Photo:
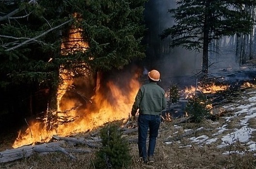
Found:
M 28 122 L 27 129 L 20 131 L 13 147 L 47 142 L 52 135 L 67 136 L 90 131 L 106 122 L 128 119 L 140 86 L 138 73 L 138 70 L 121 72 L 115 78 L 98 73 L 94 94 L 88 99 L 79 99 L 81 97 L 75 97 L 74 90 L 66 90 L 61 97 L 59 111 L 48 110 L 43 123 L 42 118 Z M 79 84 L 79 79 L 75 84 L 73 88 Z

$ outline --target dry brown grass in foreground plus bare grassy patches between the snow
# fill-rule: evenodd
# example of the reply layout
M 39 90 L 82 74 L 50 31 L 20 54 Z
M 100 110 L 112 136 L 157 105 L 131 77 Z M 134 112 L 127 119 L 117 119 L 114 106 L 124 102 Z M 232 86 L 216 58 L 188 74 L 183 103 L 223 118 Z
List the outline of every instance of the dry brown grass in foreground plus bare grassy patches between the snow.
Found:
M 221 124 L 214 123 L 213 125 L 209 121 L 203 121 L 201 124 L 183 124 L 185 128 L 204 126 L 212 129 L 219 125 Z M 191 144 L 191 141 L 188 141 L 190 136 L 182 138 L 180 143 L 164 143 L 164 140 L 168 136 L 174 136 L 173 133 L 176 131 L 183 132 L 184 130 L 173 127 L 172 123 L 161 125 L 155 149 L 156 163 L 152 165 L 143 164 L 138 157 L 137 145 L 130 144 L 133 163 L 129 169 L 256 169 L 256 157 L 253 153 L 223 155 L 224 151 L 244 151 L 245 147 L 239 143 L 232 144 L 225 149 L 218 149 L 214 143 L 205 146 Z M 207 133 L 209 131 L 205 133 L 202 131 L 200 134 L 207 135 Z M 136 138 L 136 133 L 129 135 L 129 138 L 132 137 Z M 92 164 L 94 153 L 73 155 L 77 158 L 76 160 L 71 160 L 60 153 L 35 154 L 29 158 L 0 164 L 0 169 L 94 169 Z

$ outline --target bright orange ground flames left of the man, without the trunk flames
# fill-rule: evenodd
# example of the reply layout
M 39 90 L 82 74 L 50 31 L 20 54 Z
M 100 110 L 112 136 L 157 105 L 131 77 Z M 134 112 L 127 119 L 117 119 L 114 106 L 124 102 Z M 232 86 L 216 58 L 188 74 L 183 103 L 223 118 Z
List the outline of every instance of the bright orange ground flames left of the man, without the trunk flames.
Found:
M 19 133 L 13 147 L 17 148 L 22 145 L 34 144 L 35 142 L 41 141 L 46 142 L 51 139 L 52 135 L 67 136 L 74 132 L 91 130 L 95 127 L 102 126 L 106 122 L 127 119 L 136 92 L 140 86 L 137 81 L 137 75 L 134 75 L 130 82 L 126 86 L 130 88 L 130 91 L 124 93 L 122 88 L 118 87 L 115 82 L 109 81 L 106 84 L 109 89 L 108 91 L 96 91 L 95 95 L 91 98 L 93 104 L 84 110 L 71 111 L 70 115 L 74 117 L 78 116 L 78 118 L 73 123 L 59 125 L 58 131 L 47 131 L 45 124 L 36 121 L 32 122 L 24 133 Z M 115 100 L 106 99 L 109 96 Z M 75 104 L 72 100 L 68 100 L 66 103 L 69 105 Z

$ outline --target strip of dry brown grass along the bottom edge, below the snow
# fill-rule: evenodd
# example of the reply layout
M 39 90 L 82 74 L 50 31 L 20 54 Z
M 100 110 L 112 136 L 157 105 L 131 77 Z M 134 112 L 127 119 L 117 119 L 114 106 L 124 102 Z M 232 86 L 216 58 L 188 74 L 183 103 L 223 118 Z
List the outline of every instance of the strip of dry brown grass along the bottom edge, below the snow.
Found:
M 214 146 L 180 148 L 179 145 L 166 145 L 157 142 L 155 150 L 157 162 L 151 166 L 139 161 L 136 145 L 131 145 L 133 164 L 130 169 L 255 169 L 255 156 L 222 155 Z M 77 154 L 71 160 L 63 154 L 33 155 L 8 164 L 1 164 L 1 169 L 93 169 L 94 154 Z

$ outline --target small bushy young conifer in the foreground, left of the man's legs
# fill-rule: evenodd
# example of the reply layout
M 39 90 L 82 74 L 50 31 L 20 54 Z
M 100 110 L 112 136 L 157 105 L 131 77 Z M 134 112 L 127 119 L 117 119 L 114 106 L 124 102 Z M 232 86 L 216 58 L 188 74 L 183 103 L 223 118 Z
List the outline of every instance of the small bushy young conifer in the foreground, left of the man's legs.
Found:
M 96 153 L 93 165 L 96 169 L 127 169 L 131 165 L 129 143 L 115 125 L 107 125 L 100 131 L 102 147 Z

